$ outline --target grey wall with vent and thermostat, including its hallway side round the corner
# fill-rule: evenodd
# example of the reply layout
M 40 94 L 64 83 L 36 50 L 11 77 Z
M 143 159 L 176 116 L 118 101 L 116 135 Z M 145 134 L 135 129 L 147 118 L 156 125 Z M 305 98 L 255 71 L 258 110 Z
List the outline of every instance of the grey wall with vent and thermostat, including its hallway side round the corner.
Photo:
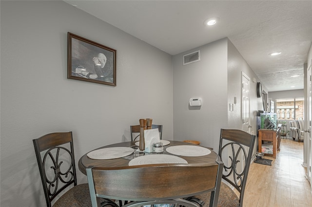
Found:
M 200 50 L 200 61 L 184 65 L 184 54 Z M 228 38 L 174 56 L 174 139 L 196 139 L 202 145 L 219 148 L 221 128 L 241 129 L 241 74 L 259 82 L 254 71 Z M 251 125 L 256 134 L 256 112 L 262 99 L 256 96 L 256 82 L 250 87 Z M 201 107 L 190 107 L 190 98 L 201 97 Z M 234 111 L 229 104 L 234 103 Z M 257 149 L 254 146 L 254 153 Z

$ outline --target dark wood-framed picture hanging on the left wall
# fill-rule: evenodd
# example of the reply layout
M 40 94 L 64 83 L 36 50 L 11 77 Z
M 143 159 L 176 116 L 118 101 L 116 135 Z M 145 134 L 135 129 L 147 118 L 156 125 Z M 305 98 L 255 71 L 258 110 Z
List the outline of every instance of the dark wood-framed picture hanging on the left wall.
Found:
M 67 78 L 116 86 L 116 50 L 68 32 Z

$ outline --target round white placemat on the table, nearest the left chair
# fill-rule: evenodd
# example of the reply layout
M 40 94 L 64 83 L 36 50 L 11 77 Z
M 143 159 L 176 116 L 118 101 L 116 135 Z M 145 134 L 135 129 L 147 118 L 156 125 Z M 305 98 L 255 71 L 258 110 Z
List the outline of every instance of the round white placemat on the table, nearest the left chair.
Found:
M 116 159 L 131 155 L 134 152 L 130 147 L 108 147 L 91 151 L 87 156 L 91 159 Z

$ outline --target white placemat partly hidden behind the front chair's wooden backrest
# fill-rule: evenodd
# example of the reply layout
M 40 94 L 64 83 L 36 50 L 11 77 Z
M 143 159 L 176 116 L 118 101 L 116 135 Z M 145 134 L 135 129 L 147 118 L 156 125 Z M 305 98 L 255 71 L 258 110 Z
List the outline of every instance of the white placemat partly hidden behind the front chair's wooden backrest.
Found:
M 136 157 L 129 162 L 129 166 L 149 164 L 187 164 L 187 161 L 174 155 L 144 155 Z

